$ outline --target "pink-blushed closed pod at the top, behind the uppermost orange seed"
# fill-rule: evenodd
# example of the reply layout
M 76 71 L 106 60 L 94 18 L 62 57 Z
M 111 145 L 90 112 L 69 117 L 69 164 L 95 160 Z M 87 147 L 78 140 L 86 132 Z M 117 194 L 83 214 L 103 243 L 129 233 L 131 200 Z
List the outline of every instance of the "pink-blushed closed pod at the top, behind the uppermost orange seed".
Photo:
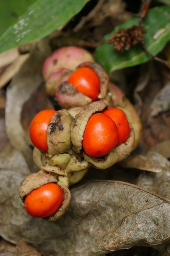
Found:
M 55 96 L 58 86 L 67 81 L 76 67 L 85 61 L 93 62 L 94 58 L 83 48 L 64 46 L 55 50 L 51 56 L 46 58 L 42 68 L 47 94 Z

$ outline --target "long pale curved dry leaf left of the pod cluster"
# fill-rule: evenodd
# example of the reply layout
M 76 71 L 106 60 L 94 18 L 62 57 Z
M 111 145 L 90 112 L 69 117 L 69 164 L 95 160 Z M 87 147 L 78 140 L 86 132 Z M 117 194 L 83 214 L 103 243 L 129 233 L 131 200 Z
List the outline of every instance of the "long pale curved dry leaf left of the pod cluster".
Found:
M 31 171 L 36 170 L 36 167 L 20 122 L 21 113 L 23 104 L 43 81 L 42 64 L 49 54 L 50 48 L 46 39 L 36 43 L 30 52 L 30 57 L 8 86 L 6 94 L 6 133 L 14 148 L 23 154 Z

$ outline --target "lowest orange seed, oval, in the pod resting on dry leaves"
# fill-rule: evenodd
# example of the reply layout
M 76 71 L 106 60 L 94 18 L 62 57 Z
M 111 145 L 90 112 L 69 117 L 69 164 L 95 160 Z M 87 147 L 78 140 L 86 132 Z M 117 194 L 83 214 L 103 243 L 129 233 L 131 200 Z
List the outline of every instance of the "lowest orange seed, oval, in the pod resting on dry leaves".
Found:
M 25 208 L 33 217 L 46 218 L 58 210 L 62 200 L 61 188 L 55 183 L 47 183 L 26 196 Z

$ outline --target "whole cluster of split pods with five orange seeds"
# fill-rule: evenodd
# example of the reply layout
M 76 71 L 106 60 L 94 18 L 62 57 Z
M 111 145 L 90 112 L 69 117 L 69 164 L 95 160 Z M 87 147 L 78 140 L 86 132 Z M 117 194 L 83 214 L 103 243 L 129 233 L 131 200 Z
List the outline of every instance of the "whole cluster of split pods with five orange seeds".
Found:
M 30 124 L 33 157 L 40 171 L 19 188 L 26 211 L 53 221 L 70 203 L 68 186 L 88 167 L 106 169 L 137 146 L 141 123 L 123 92 L 84 49 L 56 50 L 43 66 L 46 92 L 61 110 L 42 110 Z

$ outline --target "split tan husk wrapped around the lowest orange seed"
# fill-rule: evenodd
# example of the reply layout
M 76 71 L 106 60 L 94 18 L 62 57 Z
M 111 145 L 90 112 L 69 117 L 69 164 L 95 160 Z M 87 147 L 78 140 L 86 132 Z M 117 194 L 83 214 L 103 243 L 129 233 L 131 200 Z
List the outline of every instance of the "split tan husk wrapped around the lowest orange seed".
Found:
M 59 182 L 55 177 L 51 176 L 50 174 L 41 173 L 41 172 L 32 173 L 28 175 L 26 178 L 24 178 L 24 180 L 21 182 L 19 186 L 19 196 L 21 200 L 24 202 L 25 197 L 28 194 L 30 194 L 30 192 L 32 192 L 33 190 L 36 190 L 37 188 L 42 187 L 44 184 L 51 183 L 51 182 L 60 186 L 63 192 L 63 201 L 59 209 L 56 212 L 54 212 L 51 216 L 44 218 L 49 221 L 55 221 L 64 214 L 64 212 L 70 205 L 70 199 L 71 199 L 69 189 L 64 184 Z

